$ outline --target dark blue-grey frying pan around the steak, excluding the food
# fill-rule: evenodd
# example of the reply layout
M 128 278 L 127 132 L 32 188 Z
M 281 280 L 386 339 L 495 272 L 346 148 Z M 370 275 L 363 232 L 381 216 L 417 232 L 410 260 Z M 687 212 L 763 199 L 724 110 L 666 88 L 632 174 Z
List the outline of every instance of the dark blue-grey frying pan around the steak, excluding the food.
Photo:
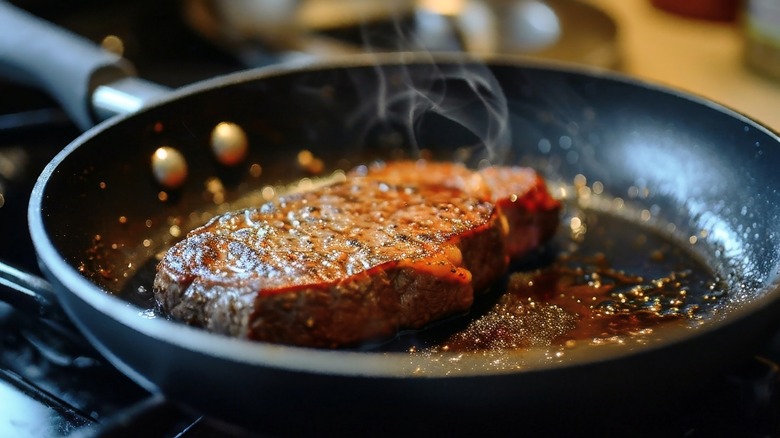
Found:
M 31 23 L 36 32 L 46 30 L 0 8 L 2 20 L 22 20 L 0 21 L 0 32 L 19 35 Z M 14 49 L 0 52 L 9 59 Z M 100 56 L 79 60 L 79 70 L 106 64 L 122 70 L 116 59 Z M 10 67 L 35 72 L 45 60 L 28 65 L 17 56 Z M 63 74 L 49 73 L 62 70 L 43 70 L 49 79 L 38 80 L 56 87 Z M 125 75 L 112 73 L 110 80 Z M 91 72 L 69 80 L 89 83 L 85 77 Z M 65 102 L 76 87 L 67 88 L 55 95 L 88 125 L 89 98 Z M 222 166 L 210 152 L 210 131 L 222 121 L 247 132 L 251 147 L 241 166 Z M 54 294 L 47 294 L 46 281 L 10 269 L 5 282 L 32 295 L 22 302 L 38 305 L 35 299 L 45 296 L 59 303 L 89 342 L 144 388 L 272 434 L 341 430 L 333 427 L 409 435 L 517 430 L 539 412 L 567 421 L 593 409 L 611 414 L 705 382 L 756 351 L 776 328 L 779 143 L 757 122 L 695 96 L 518 58 L 373 54 L 249 70 L 156 97 L 67 145 L 41 174 L 29 205 L 30 233 Z M 174 190 L 161 187 L 150 170 L 163 144 L 189 164 L 185 183 Z M 237 208 L 255 192 L 311 178 L 297 160 L 304 149 L 324 161 L 326 173 L 424 149 L 473 166 L 531 165 L 561 197 L 572 181 L 598 181 L 612 199 L 607 204 L 625 207 L 611 210 L 623 218 L 619 223 L 629 230 L 667 224 L 669 239 L 719 273 L 729 293 L 701 324 L 645 343 L 573 349 L 562 357 L 541 349 L 433 360 L 252 343 L 156 317 L 138 304 L 148 295 L 155 255 L 180 238 L 176 230 Z M 636 252 L 625 241 L 608 248 L 618 261 Z

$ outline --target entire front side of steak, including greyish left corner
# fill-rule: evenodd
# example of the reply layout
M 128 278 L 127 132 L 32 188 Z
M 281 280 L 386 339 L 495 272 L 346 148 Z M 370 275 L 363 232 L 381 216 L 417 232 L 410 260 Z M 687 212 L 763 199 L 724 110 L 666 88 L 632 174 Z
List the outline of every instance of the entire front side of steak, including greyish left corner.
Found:
M 261 294 L 251 287 L 163 279 L 169 285 L 163 305 L 173 318 L 214 333 L 335 348 L 385 340 L 402 328 L 467 311 L 474 296 L 469 272 L 443 269 L 451 275 L 392 263 L 335 284 Z

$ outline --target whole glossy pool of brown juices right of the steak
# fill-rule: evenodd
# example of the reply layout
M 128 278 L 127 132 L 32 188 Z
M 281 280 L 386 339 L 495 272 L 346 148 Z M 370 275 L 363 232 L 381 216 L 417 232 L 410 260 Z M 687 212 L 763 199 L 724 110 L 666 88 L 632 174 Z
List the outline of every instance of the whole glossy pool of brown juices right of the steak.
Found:
M 422 354 L 642 343 L 664 326 L 697 325 L 724 293 L 684 244 L 608 212 L 580 211 L 473 314 L 405 343 Z

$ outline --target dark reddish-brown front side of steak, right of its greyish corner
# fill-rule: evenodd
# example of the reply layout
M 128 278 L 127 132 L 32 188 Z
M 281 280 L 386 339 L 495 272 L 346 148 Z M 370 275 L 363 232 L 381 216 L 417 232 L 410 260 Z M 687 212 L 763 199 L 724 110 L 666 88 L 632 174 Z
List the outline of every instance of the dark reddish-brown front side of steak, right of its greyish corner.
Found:
M 331 348 L 386 340 L 401 329 L 467 311 L 474 294 L 468 272 L 460 276 L 462 281 L 451 281 L 397 265 L 327 287 L 260 295 L 249 338 Z

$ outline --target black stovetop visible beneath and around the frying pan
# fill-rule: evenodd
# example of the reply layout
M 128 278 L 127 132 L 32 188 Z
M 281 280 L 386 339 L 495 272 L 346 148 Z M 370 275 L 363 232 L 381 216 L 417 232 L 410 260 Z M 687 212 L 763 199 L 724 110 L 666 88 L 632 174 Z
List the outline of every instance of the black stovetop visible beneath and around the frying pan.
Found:
M 16 2 L 96 41 L 107 34 L 120 36 L 141 75 L 171 87 L 245 67 L 189 29 L 176 2 L 72 3 Z M 0 81 L 0 96 L 0 259 L 38 273 L 27 234 L 29 193 L 47 161 L 79 131 L 36 90 Z M 632 436 L 776 436 L 777 363 L 780 341 L 658 412 L 646 411 L 630 421 L 605 413 L 586 424 L 593 431 Z M 561 421 L 561 413 L 552 415 L 551 421 Z M 116 435 L 231 437 L 262 431 L 185 411 L 123 376 L 73 327 L 0 304 L 0 436 Z

